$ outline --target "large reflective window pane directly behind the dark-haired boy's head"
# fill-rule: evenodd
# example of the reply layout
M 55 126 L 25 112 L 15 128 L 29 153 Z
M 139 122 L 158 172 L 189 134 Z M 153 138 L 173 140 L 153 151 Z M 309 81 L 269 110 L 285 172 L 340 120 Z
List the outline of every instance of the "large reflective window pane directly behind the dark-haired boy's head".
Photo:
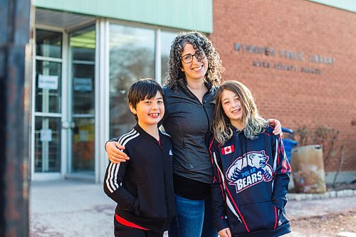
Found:
M 127 91 L 138 78 L 155 76 L 155 31 L 110 25 L 110 137 L 135 125 Z

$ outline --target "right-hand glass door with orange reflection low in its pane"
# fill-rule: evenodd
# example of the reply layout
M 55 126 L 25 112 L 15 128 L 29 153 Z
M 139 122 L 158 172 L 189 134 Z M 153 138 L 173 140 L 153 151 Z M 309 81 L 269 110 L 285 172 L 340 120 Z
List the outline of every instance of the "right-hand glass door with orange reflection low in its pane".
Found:
M 74 31 L 69 41 L 69 174 L 95 174 L 95 26 Z

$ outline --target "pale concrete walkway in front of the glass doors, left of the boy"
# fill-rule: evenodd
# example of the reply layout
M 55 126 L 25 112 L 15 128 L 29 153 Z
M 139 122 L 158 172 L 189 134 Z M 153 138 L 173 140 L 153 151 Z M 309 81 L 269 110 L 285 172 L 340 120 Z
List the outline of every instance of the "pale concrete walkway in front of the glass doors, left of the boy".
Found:
M 30 236 L 113 236 L 115 206 L 103 184 L 31 182 Z

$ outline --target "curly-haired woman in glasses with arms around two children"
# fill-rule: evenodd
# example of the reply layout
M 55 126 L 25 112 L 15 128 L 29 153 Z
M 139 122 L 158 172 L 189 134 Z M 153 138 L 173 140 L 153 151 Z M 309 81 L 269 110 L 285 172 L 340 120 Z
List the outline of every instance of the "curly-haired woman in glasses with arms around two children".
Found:
M 177 223 L 172 223 L 169 237 L 217 236 L 211 214 L 212 169 L 207 147 L 223 70 L 219 53 L 203 34 L 179 33 L 172 42 L 162 121 L 172 137 L 177 206 Z M 275 132 L 281 133 L 278 120 L 271 122 L 276 125 Z M 107 142 L 105 149 L 111 162 L 128 159 L 117 142 Z

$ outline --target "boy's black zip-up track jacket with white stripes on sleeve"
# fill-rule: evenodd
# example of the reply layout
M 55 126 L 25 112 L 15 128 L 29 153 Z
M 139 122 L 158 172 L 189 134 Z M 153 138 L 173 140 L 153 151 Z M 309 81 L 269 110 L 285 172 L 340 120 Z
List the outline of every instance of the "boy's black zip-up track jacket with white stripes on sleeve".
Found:
M 159 132 L 160 144 L 139 125 L 120 137 L 130 159 L 106 169 L 104 191 L 117 202 L 115 213 L 152 231 L 163 232 L 176 216 L 172 142 Z

